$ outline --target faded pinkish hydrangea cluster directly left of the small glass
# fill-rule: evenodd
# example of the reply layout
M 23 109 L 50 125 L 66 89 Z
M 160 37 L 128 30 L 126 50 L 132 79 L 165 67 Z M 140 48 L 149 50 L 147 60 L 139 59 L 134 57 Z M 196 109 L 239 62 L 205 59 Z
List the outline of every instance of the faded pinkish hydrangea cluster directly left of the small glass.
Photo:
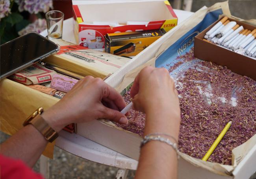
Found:
M 31 31 L 41 33 L 44 30 L 46 30 L 46 20 L 44 18 L 39 18 L 32 24 L 28 24 L 28 26 L 19 31 L 18 34 L 21 36 Z

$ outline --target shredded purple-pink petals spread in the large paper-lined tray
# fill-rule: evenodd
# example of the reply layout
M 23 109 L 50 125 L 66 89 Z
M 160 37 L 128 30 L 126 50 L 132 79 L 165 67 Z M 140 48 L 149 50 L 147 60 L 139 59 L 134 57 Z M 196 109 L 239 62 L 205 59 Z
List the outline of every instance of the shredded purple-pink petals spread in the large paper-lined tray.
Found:
M 232 125 L 208 159 L 231 165 L 232 149 L 256 134 L 256 81 L 224 66 L 197 59 L 193 48 L 166 65 L 180 95 L 179 150 L 202 159 L 221 133 Z M 130 103 L 130 90 L 124 94 Z M 128 124 L 117 126 L 143 136 L 145 114 L 130 110 Z

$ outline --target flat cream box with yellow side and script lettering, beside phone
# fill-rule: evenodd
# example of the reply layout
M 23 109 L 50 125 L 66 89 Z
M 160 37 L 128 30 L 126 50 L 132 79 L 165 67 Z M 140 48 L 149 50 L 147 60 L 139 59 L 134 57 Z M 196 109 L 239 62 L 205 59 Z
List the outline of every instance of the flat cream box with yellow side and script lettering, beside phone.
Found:
M 91 75 L 103 79 L 130 61 L 126 57 L 91 50 L 61 39 L 55 39 L 54 42 L 61 46 L 59 52 L 44 61 L 81 76 Z

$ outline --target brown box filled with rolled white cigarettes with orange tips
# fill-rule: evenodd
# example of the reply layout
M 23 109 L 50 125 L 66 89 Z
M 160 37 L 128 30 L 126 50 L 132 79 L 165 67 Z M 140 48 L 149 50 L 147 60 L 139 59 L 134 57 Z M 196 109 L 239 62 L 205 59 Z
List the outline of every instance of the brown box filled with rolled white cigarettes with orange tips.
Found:
M 228 22 L 226 25 L 225 21 Z M 228 25 L 230 26 L 227 27 Z M 256 26 L 233 18 L 221 17 L 195 37 L 194 55 L 256 79 L 256 58 L 252 56 L 256 51 L 255 38 Z

